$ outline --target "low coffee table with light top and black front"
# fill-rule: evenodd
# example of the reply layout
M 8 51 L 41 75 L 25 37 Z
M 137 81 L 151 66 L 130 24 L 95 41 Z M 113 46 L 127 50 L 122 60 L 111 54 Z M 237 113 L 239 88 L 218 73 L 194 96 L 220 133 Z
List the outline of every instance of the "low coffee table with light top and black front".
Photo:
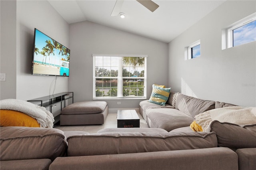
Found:
M 140 118 L 135 110 L 118 110 L 117 111 L 117 127 L 133 128 L 140 127 Z

